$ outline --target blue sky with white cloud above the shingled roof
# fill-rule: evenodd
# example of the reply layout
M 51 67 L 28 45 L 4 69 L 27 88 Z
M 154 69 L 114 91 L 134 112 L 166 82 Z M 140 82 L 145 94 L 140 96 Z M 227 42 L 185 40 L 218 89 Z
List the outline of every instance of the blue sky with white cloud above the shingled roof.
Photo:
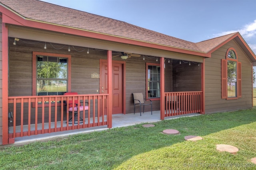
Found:
M 240 32 L 256 54 L 256 0 L 42 1 L 125 21 L 194 43 Z

